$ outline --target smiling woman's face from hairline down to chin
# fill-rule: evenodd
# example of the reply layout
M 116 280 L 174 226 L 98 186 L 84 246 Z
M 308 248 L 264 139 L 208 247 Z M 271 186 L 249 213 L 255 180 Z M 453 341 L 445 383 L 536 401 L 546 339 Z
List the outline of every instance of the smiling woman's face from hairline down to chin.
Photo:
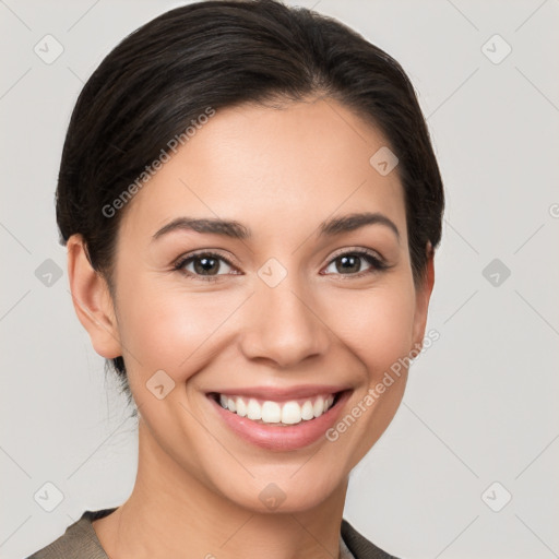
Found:
M 369 163 L 385 145 L 332 99 L 227 108 L 126 209 L 115 316 L 86 328 L 151 448 L 228 501 L 317 506 L 402 400 L 432 274 L 414 285 L 397 167 Z

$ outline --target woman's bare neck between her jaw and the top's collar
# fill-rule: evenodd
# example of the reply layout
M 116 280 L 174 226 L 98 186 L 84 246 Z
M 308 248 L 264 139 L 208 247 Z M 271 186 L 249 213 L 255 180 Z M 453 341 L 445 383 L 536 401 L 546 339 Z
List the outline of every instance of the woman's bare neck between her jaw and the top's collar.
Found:
M 139 426 L 139 467 L 129 499 L 94 522 L 115 559 L 337 559 L 347 479 L 312 509 L 262 513 L 212 491 Z

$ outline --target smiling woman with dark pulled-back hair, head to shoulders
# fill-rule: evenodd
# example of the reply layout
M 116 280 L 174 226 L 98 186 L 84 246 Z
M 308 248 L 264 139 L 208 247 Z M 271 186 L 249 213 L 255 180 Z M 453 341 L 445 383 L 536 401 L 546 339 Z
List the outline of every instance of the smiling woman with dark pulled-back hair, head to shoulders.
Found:
M 78 99 L 57 219 L 138 476 L 32 557 L 392 557 L 344 502 L 421 348 L 442 211 L 413 86 L 341 23 L 207 1 L 127 37 Z

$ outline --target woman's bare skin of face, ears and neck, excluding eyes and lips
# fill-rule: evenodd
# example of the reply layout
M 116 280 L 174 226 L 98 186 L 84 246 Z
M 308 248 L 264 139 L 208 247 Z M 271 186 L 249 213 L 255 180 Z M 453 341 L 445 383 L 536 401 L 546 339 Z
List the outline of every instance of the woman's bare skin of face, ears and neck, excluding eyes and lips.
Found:
M 221 109 L 126 207 L 115 300 L 81 237 L 68 241 L 78 317 L 100 356 L 123 356 L 140 413 L 134 489 L 93 523 L 112 559 L 338 557 L 349 472 L 392 420 L 407 371 L 337 441 L 290 452 L 239 439 L 205 393 L 347 384 L 344 417 L 421 345 L 432 254 L 425 282 L 414 285 L 397 173 L 383 177 L 369 164 L 383 145 L 378 130 L 333 99 Z M 381 224 L 319 238 L 322 221 L 364 211 L 389 217 L 400 239 Z M 152 241 L 183 215 L 236 219 L 253 237 L 179 230 Z M 217 282 L 173 269 L 199 249 L 234 265 L 218 261 Z M 357 271 L 336 267 L 337 253 L 356 249 L 391 267 L 377 271 L 362 258 Z M 270 258 L 287 271 L 273 288 L 258 275 Z M 193 263 L 187 270 L 197 273 Z M 145 385 L 160 369 L 176 383 L 163 400 Z M 286 496 L 275 511 L 259 499 L 270 483 Z

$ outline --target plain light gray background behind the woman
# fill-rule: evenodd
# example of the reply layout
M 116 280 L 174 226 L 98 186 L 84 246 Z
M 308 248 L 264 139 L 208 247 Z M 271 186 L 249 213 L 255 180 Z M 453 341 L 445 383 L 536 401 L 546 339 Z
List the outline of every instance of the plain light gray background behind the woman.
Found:
M 135 423 L 75 318 L 53 191 L 83 82 L 180 3 L 0 0 L 5 559 L 133 486 Z M 403 64 L 448 197 L 428 322 L 440 340 L 354 469 L 345 518 L 402 558 L 559 557 L 559 1 L 290 3 L 341 19 Z M 34 51 L 47 34 L 63 47 L 52 63 Z M 512 48 L 503 60 L 496 34 Z M 34 499 L 47 481 L 63 493 L 52 512 L 55 490 Z

